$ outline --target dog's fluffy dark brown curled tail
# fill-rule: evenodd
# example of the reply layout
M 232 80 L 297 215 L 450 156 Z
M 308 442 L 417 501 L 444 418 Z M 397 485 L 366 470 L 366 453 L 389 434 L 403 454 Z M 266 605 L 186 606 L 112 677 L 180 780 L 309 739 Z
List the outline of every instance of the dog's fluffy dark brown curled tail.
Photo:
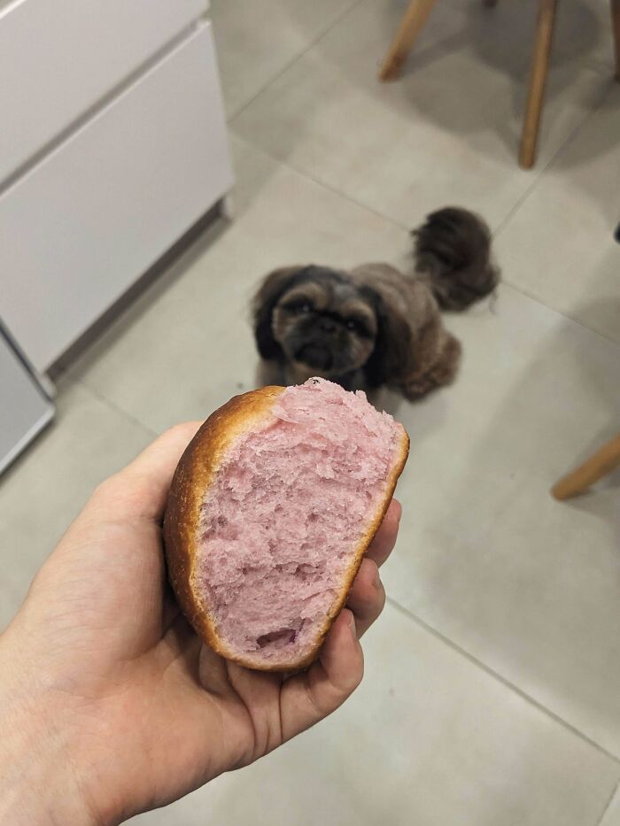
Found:
M 444 309 L 464 310 L 500 281 L 491 258 L 491 232 L 473 212 L 447 206 L 432 212 L 411 234 L 416 272 Z

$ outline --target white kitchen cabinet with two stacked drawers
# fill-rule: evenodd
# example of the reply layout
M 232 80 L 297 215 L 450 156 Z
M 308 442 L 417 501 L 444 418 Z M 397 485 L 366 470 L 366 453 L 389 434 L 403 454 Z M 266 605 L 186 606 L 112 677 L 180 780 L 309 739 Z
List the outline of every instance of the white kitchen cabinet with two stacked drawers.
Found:
M 232 186 L 207 12 L 0 0 L 0 319 L 35 373 Z

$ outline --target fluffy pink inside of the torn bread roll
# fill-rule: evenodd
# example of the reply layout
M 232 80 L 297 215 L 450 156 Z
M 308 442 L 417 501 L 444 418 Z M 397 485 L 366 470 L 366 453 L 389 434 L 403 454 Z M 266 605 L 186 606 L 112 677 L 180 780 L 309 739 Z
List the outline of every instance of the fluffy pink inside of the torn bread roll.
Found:
M 195 582 L 233 651 L 309 652 L 384 500 L 402 428 L 323 379 L 284 391 L 207 491 Z

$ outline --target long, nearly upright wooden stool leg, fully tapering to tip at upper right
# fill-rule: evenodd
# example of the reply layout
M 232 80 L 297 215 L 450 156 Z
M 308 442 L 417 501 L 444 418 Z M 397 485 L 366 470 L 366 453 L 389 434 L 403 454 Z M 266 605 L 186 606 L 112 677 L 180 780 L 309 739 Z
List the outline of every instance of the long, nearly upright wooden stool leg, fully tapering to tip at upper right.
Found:
M 531 169 L 536 160 L 536 144 L 539 140 L 540 112 L 545 96 L 546 72 L 549 66 L 549 52 L 554 35 L 555 9 L 557 0 L 539 0 L 539 21 L 536 28 L 536 43 L 531 61 L 530 92 L 528 95 L 519 164 Z

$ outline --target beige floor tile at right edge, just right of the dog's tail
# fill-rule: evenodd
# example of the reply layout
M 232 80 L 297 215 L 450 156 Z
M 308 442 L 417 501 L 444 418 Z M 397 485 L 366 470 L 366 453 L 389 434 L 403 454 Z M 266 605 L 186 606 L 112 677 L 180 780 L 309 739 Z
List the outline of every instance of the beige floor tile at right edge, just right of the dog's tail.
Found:
M 506 280 L 620 342 L 620 89 L 546 170 L 496 242 Z

